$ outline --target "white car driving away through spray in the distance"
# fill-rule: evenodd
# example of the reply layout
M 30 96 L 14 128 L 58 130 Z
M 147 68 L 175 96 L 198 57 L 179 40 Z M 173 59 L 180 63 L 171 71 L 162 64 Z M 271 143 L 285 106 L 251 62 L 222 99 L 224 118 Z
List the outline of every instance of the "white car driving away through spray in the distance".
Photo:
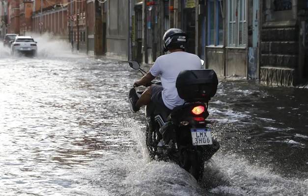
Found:
M 29 54 L 37 56 L 37 42 L 31 36 L 17 36 L 11 41 L 11 54 Z

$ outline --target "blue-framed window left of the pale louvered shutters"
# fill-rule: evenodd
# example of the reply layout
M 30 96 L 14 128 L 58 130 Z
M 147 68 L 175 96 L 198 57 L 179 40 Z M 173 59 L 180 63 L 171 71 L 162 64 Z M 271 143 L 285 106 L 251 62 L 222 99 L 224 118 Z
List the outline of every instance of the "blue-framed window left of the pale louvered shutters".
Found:
M 208 45 L 224 45 L 224 0 L 208 0 Z

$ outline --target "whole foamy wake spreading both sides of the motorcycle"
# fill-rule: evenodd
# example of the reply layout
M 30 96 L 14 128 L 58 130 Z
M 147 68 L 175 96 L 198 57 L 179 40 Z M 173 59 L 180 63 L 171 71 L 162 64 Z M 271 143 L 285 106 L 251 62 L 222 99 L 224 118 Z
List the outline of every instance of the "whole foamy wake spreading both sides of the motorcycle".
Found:
M 205 164 L 201 184 L 178 165 L 150 161 L 144 127 L 132 119 L 118 119 L 117 129 L 128 133 L 131 148 L 101 149 L 101 158 L 90 167 L 75 170 L 65 180 L 77 195 L 102 196 L 307 196 L 308 181 L 283 178 L 270 170 L 241 159 L 236 154 L 215 154 Z M 137 147 L 136 147 L 137 146 Z M 93 152 L 94 153 L 94 152 Z M 75 185 L 76 183 L 76 185 Z

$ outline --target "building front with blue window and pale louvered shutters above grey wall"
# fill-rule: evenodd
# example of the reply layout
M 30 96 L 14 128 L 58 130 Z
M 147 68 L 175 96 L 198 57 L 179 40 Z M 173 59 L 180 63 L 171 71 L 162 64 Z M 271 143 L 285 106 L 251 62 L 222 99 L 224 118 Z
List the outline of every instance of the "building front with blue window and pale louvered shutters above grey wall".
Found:
M 205 6 L 198 6 L 204 7 L 205 20 L 198 25 L 205 29 L 201 31 L 205 34 L 201 38 L 205 49 L 200 51 L 205 51 L 206 68 L 222 76 L 256 78 L 256 64 L 249 70 L 248 54 L 249 50 L 257 51 L 257 0 L 205 0 L 202 3 Z M 253 57 L 257 55 L 253 53 Z M 252 74 L 248 76 L 248 73 Z

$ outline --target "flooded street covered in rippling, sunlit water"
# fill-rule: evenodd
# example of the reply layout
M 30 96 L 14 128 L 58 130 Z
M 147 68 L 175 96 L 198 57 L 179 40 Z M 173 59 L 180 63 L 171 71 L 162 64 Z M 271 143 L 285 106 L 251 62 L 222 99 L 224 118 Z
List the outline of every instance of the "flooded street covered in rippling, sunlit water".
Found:
M 220 81 L 209 119 L 221 149 L 198 185 L 146 155 L 127 62 L 0 52 L 0 195 L 308 196 L 307 88 Z

